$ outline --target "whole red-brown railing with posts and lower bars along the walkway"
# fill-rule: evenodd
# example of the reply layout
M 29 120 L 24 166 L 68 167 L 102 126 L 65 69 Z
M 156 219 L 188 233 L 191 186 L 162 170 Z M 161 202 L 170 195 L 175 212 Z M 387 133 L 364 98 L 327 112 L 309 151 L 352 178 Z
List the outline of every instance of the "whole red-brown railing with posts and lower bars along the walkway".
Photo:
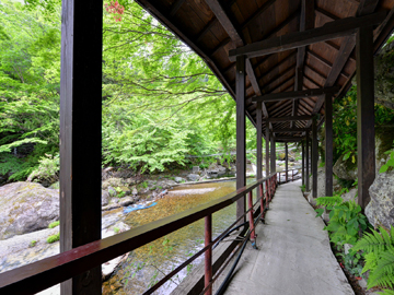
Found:
M 266 186 L 264 193 L 264 184 Z M 260 219 L 264 221 L 264 213 L 269 206 L 269 202 L 274 197 L 276 187 L 278 185 L 277 174 L 269 177 L 262 178 L 254 184 L 245 186 L 232 193 L 229 193 L 218 200 L 213 200 L 196 208 L 186 210 L 182 213 L 167 216 L 165 219 L 132 228 L 125 233 L 100 239 L 72 250 L 30 263 L 27 266 L 7 271 L 0 274 L 0 294 L 34 294 L 39 291 L 46 290 L 55 284 L 61 283 L 70 278 L 83 273 L 90 269 L 99 267 L 104 262 L 114 259 L 128 251 L 137 249 L 150 241 L 153 241 L 162 236 L 175 232 L 190 223 L 200 219 L 205 219 L 205 247 L 195 256 L 183 262 L 174 271 L 166 274 L 159 283 L 148 290 L 144 294 L 152 294 L 167 280 L 175 275 L 178 271 L 194 261 L 197 257 L 205 253 L 205 288 L 201 294 L 211 294 L 212 283 L 224 270 L 227 263 L 231 260 L 228 259 L 224 266 L 212 276 L 212 246 L 224 237 L 231 228 L 242 221 L 246 214 L 250 219 L 250 231 L 246 238 L 251 238 L 255 243 L 255 223 L 253 219 L 254 208 L 257 204 L 260 210 Z M 259 198 L 252 203 L 253 189 L 259 189 Z M 248 210 L 244 215 L 239 219 L 220 236 L 212 240 L 212 214 L 225 206 L 236 202 L 242 197 L 248 194 Z M 240 249 L 241 244 L 239 245 Z M 232 257 L 236 253 L 233 252 Z

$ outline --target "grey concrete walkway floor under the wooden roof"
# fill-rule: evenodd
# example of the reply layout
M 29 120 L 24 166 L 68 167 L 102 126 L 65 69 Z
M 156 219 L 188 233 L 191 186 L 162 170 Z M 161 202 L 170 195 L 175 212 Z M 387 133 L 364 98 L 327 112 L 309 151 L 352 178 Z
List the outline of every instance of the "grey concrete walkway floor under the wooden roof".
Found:
M 355 294 L 332 252 L 322 219 L 315 217 L 300 186 L 301 180 L 278 187 L 266 224 L 256 227 L 258 249 L 248 243 L 227 295 Z M 215 293 L 231 266 L 213 284 Z

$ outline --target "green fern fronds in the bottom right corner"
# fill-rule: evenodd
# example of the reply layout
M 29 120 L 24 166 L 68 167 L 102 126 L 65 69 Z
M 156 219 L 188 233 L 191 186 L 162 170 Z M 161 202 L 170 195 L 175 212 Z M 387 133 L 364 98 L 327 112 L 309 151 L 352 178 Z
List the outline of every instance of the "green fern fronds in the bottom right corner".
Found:
M 379 232 L 364 233 L 355 250 L 366 251 L 362 272 L 370 271 L 368 288 L 373 286 L 394 287 L 394 227 L 390 234 L 380 227 Z

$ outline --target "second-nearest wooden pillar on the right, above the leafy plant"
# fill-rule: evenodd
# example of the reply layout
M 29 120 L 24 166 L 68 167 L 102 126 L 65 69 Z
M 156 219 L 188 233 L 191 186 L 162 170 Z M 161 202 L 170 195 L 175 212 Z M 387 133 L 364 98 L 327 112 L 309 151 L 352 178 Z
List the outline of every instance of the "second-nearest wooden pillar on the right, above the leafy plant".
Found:
M 325 95 L 325 196 L 333 197 L 333 96 Z

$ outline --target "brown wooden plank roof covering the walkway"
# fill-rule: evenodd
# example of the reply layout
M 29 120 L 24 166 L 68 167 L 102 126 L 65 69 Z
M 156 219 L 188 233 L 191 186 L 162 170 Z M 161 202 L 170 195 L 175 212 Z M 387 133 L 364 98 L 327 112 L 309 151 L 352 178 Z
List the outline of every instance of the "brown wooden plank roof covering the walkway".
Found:
M 246 115 L 256 125 L 253 97 L 271 93 L 306 91 L 335 86 L 343 96 L 356 72 L 355 34 L 331 35 L 329 39 L 303 47 L 282 46 L 278 36 L 293 36 L 347 17 L 367 17 L 379 12 L 381 24 L 374 30 L 374 50 L 384 44 L 394 27 L 394 0 L 138 0 L 138 2 L 193 48 L 210 67 L 235 99 L 235 62 L 229 51 L 266 40 L 280 50 L 246 59 Z M 366 16 L 367 15 L 367 16 Z M 372 22 L 362 19 L 361 23 Z M 351 20 L 351 19 L 348 19 Z M 360 19 L 358 19 L 360 20 Z M 343 20 L 344 21 L 344 20 Z M 332 23 L 335 24 L 335 23 Z M 338 24 L 333 30 L 339 31 Z M 322 28 L 323 30 L 323 28 Z M 326 32 L 327 30 L 325 30 Z M 312 31 L 310 31 L 312 32 Z M 317 33 L 317 32 L 316 32 Z M 290 35 L 289 35 L 290 34 Z M 309 34 L 308 36 L 310 36 Z M 305 34 L 306 36 L 306 34 Z M 334 37 L 334 38 L 332 38 Z M 289 39 L 289 38 L 288 38 Z M 245 47 L 246 46 L 246 47 Z M 281 47 L 280 47 L 281 46 Z M 251 46 L 250 46 L 251 47 Z M 283 137 L 293 128 L 309 128 L 312 115 L 324 120 L 324 96 L 263 103 L 270 129 Z M 305 120 L 275 121 L 274 118 L 304 116 Z M 263 120 L 265 128 L 266 120 Z M 288 131 L 288 132 L 286 132 Z

